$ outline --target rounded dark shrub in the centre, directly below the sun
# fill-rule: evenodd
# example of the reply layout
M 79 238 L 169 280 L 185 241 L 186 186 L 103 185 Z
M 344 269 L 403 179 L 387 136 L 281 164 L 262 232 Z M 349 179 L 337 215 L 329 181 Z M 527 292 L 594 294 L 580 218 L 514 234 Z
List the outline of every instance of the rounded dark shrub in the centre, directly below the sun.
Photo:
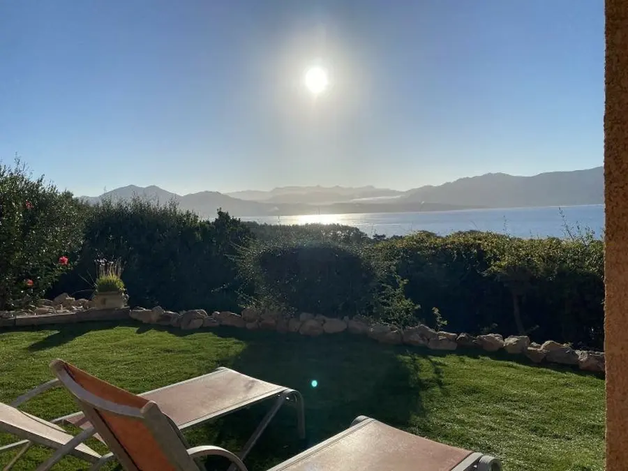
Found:
M 383 265 L 361 245 L 254 241 L 241 248 L 237 260 L 253 294 L 243 304 L 329 317 L 361 314 L 397 323 L 414 311 L 403 290 L 388 283 Z

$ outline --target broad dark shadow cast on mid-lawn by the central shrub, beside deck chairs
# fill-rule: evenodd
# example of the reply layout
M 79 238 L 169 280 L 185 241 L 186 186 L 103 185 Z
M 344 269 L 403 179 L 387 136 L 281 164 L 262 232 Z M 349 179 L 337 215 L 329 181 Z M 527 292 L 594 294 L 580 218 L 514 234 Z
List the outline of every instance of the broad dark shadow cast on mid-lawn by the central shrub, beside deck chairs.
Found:
M 214 334 L 246 343 L 244 351 L 225 366 L 297 389 L 304 397 L 306 442 L 297 438 L 294 411 L 285 408 L 248 458 L 252 469 L 265 469 L 331 437 L 359 415 L 406 426 L 410 417 L 426 413 L 421 394 L 434 387 L 424 382 L 424 376 L 431 378 L 433 371 L 421 371 L 424 364 L 400 355 L 406 352 L 405 347 L 373 348 L 373 343 L 349 334 L 307 338 L 237 329 L 216 329 Z M 262 405 L 223 419 L 216 441 L 238 449 L 268 407 Z

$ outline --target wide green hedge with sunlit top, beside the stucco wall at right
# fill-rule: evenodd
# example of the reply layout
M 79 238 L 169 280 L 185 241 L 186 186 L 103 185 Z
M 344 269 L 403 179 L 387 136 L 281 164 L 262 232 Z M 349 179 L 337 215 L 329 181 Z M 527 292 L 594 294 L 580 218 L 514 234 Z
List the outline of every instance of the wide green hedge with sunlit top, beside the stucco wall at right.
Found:
M 419 233 L 379 248 L 408 281 L 408 298 L 437 307 L 451 331 L 603 347 L 604 244 L 590 234 L 562 240 Z

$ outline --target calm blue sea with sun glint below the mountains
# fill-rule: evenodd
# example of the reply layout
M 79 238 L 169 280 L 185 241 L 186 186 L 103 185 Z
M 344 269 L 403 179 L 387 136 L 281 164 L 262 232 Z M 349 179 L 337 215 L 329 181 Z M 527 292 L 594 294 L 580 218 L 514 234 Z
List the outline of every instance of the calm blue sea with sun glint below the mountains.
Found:
M 426 230 L 447 235 L 479 230 L 514 237 L 569 237 L 590 231 L 604 234 L 604 205 L 465 209 L 461 211 L 422 211 L 369 214 L 308 214 L 303 216 L 260 216 L 241 218 L 267 224 L 343 224 L 359 228 L 369 236 L 407 235 Z

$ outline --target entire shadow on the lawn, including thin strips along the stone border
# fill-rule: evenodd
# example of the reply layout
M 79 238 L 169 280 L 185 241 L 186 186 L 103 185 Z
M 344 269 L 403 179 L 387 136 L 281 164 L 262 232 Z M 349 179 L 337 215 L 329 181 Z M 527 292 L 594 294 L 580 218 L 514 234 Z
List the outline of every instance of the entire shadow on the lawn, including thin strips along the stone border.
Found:
M 351 334 L 336 334 L 308 338 L 298 334 L 278 334 L 269 331 L 247 331 L 220 327 L 182 331 L 170 327 L 128 322 L 87 322 L 63 324 L 20 330 L 58 329 L 46 338 L 34 343 L 30 350 L 45 350 L 63 345 L 90 331 L 125 326 L 137 335 L 149 331 L 167 331 L 173 336 L 186 338 L 197 336 L 202 342 L 211 342 L 211 336 L 234 338 L 246 345 L 232 357 L 225 357 L 223 366 L 234 368 L 260 379 L 282 384 L 301 391 L 306 406 L 306 442 L 299 440 L 296 416 L 291 408 L 283 408 L 271 422 L 267 431 L 247 458 L 251 471 L 266 470 L 306 447 L 331 437 L 350 425 L 359 415 L 367 415 L 391 426 L 407 428 L 408 424 L 420 424 L 426 419 L 424 401 L 429 394 L 447 396 L 444 387 L 442 357 L 454 355 L 458 361 L 470 358 L 488 358 L 531 366 L 525 357 L 506 352 L 488 353 L 482 350 L 457 350 L 438 352 L 408 346 L 379 345 L 371 339 Z M 215 340 L 215 339 L 214 339 Z M 537 366 L 565 374 L 590 375 L 571 367 Z M 316 383 L 313 383 L 315 381 Z M 215 424 L 186 431 L 193 445 L 220 444 L 237 451 L 253 433 L 271 401 L 218 420 Z M 213 461 L 208 463 L 210 469 Z M 226 469 L 224 463 L 216 468 Z

